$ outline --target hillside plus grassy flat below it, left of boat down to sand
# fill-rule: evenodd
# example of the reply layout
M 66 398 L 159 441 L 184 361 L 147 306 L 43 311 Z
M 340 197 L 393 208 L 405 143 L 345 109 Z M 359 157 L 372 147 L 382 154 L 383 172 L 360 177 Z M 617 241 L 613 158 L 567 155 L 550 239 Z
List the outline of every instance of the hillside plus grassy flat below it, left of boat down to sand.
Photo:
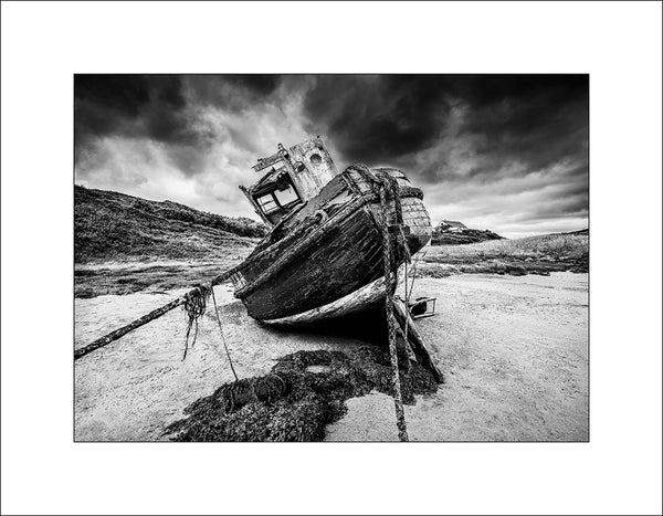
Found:
M 74 295 L 162 292 L 236 265 L 266 233 L 246 218 L 74 188 Z

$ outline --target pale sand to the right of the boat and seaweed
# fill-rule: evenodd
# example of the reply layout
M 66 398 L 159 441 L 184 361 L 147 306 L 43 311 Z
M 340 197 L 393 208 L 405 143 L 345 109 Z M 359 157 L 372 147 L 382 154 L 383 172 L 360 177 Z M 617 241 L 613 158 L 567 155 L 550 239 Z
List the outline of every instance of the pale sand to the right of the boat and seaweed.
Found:
M 406 407 L 422 441 L 588 440 L 587 274 L 421 280 L 440 315 L 419 323 L 445 383 Z M 393 402 L 348 402 L 327 439 L 397 440 Z

